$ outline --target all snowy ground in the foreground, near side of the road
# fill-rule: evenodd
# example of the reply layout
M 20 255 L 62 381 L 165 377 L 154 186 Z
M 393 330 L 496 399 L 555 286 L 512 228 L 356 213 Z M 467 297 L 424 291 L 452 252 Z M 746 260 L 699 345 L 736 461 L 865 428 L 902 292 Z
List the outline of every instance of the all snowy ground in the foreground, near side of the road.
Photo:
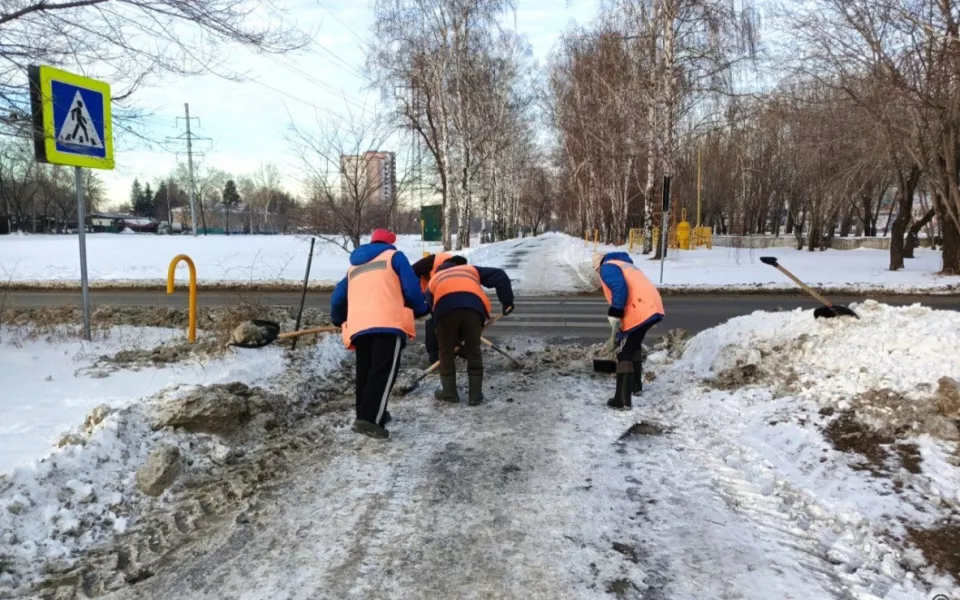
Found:
M 606 408 L 595 348 L 515 339 L 525 367 L 487 354 L 483 406 L 427 380 L 391 401 L 385 443 L 349 429 L 335 336 L 104 378 L 94 356 L 175 334 L 7 334 L 3 380 L 25 382 L 0 416 L 38 441 L 0 471 L 0 598 L 956 597 L 960 314 L 851 306 L 666 336 L 629 412 Z M 231 381 L 275 396 L 185 400 Z M 235 398 L 273 416 L 156 424 L 174 405 L 216 424 Z M 150 498 L 134 473 L 160 445 L 184 472 Z

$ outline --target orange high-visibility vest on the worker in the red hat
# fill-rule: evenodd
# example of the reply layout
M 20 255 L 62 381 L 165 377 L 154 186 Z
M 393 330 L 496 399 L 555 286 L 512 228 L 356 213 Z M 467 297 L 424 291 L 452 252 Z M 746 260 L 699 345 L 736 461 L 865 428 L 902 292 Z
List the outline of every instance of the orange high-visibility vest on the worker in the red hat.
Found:
M 353 350 L 353 338 L 371 329 L 399 329 L 411 340 L 416 337 L 413 311 L 404 305 L 400 276 L 391 260 L 396 250 L 387 250 L 374 260 L 347 270 L 347 321 L 343 343 Z

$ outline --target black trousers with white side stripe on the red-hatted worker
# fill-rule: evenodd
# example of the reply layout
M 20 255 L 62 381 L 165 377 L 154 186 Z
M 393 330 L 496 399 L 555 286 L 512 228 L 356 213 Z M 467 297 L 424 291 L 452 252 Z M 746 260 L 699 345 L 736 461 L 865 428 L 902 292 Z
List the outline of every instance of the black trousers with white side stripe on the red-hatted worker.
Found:
M 357 351 L 357 418 L 380 425 L 400 370 L 403 340 L 392 333 L 371 333 L 353 340 Z

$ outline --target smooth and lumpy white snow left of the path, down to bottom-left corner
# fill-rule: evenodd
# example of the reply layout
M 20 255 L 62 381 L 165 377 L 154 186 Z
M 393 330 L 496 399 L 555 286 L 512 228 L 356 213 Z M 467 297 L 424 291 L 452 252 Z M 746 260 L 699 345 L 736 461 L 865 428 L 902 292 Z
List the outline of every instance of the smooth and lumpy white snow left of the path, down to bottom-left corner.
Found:
M 231 442 L 219 436 L 158 429 L 157 411 L 205 386 L 290 391 L 279 347 L 200 353 L 156 367 L 113 358 L 141 350 L 149 357 L 182 344 L 182 331 L 113 327 L 96 331 L 93 342 L 66 329 L 30 334 L 30 327 L 0 328 L 0 598 L 24 592 L 48 569 L 70 565 L 162 506 L 166 497 L 150 499 L 135 481 L 159 446 L 188 457 L 181 479 L 209 476 L 230 456 Z M 332 337 L 303 352 L 314 377 L 339 369 L 345 355 Z

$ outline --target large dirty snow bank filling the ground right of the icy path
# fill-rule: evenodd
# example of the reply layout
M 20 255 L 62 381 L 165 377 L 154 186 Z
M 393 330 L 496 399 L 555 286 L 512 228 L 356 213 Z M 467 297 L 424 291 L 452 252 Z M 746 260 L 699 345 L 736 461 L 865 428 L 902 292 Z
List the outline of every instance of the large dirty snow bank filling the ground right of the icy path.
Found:
M 792 532 L 848 589 L 958 593 L 960 313 L 851 308 L 860 319 L 731 319 L 679 359 L 651 356 L 645 395 L 676 443 L 709 448 L 723 493 Z

